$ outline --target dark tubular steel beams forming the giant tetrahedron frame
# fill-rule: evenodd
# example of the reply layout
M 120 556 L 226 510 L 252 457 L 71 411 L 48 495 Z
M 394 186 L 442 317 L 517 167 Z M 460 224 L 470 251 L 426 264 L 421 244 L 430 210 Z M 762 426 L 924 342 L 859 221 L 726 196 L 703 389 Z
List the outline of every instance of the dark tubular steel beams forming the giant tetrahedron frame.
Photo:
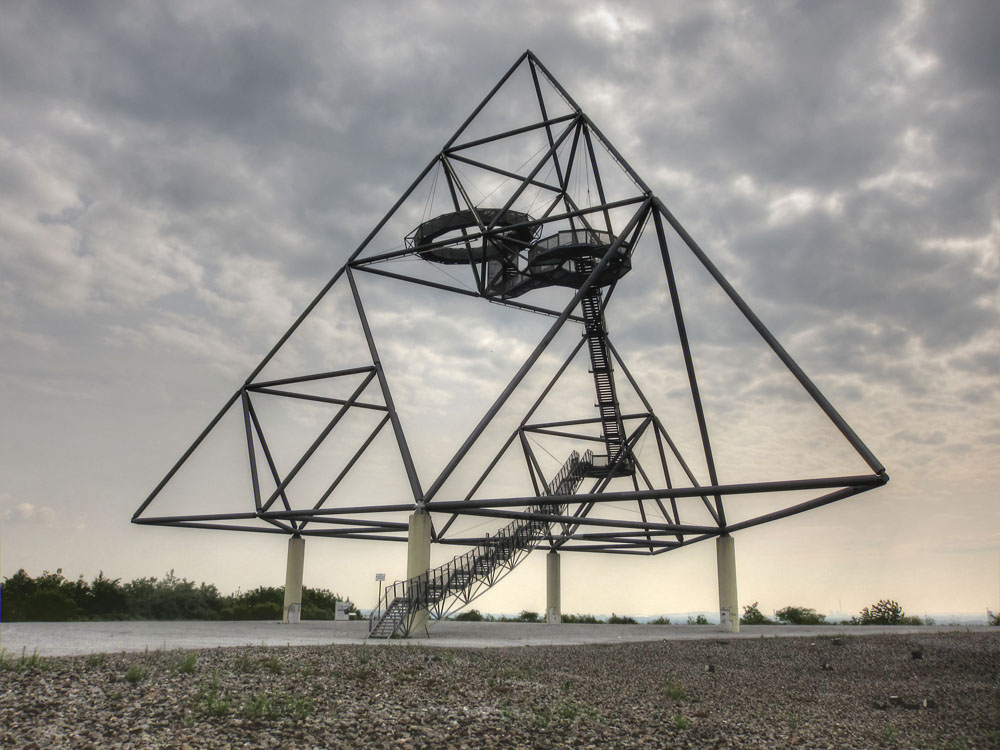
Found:
M 493 100 L 505 83 L 515 74 L 516 71 L 527 66 L 531 76 L 536 95 L 539 111 L 539 119 L 526 126 L 515 128 L 506 132 L 497 133 L 485 138 L 477 138 L 471 141 L 460 141 L 463 133 L 470 123 L 484 110 Z M 570 112 L 565 115 L 550 117 L 546 110 L 546 98 L 543 95 L 542 86 L 546 85 L 556 96 L 568 106 Z M 548 144 L 547 150 L 542 156 L 533 161 L 533 167 L 525 173 L 511 171 L 488 162 L 472 159 L 467 152 L 475 147 L 486 144 L 502 142 L 506 138 L 519 136 L 531 131 L 542 131 Z M 561 160 L 560 155 L 565 154 L 565 148 L 569 146 L 569 157 Z M 606 152 L 610 159 L 627 176 L 634 191 L 624 197 L 614 197 L 609 199 L 605 194 L 598 169 L 598 159 L 596 156 L 597 147 Z M 574 170 L 574 159 L 577 153 L 582 153 L 583 161 L 587 162 L 587 168 L 592 170 L 596 181 L 599 201 L 593 205 L 581 207 L 571 198 L 568 190 L 570 176 Z M 484 209 L 475 204 L 468 196 L 466 186 L 459 175 L 457 165 L 475 167 L 487 170 L 500 175 L 508 180 L 513 180 L 516 185 L 511 197 L 507 198 L 505 204 L 496 209 Z M 556 182 L 552 184 L 546 182 L 546 177 L 540 177 L 542 169 L 548 165 L 550 171 L 556 175 Z M 465 263 L 473 273 L 476 288 L 474 290 L 464 289 L 459 286 L 442 284 L 427 279 L 396 273 L 381 267 L 387 262 L 401 258 L 420 258 L 425 260 L 428 253 L 439 250 L 449 245 L 455 247 L 453 240 L 418 242 L 403 249 L 395 249 L 387 252 L 377 252 L 366 254 L 369 245 L 379 232 L 386 226 L 390 219 L 396 214 L 401 206 L 411 197 L 414 190 L 428 177 L 432 170 L 440 169 L 445 175 L 450 196 L 456 212 L 468 212 L 475 221 L 475 226 L 464 226 L 461 228 L 462 238 L 458 243 L 461 247 L 464 243 L 468 248 L 468 262 Z M 515 204 L 519 196 L 529 187 L 545 190 L 552 194 L 552 200 L 548 202 L 544 213 L 540 218 L 519 214 L 515 210 Z M 488 211 L 488 213 L 487 213 Z M 628 218 L 618 222 L 619 229 L 613 231 L 611 213 L 624 214 Z M 700 433 L 701 453 L 699 461 L 704 461 L 707 470 L 708 482 L 699 484 L 695 472 L 689 468 L 688 463 L 681 455 L 677 446 L 671 439 L 670 433 L 665 425 L 660 421 L 654 409 L 640 388 L 639 383 L 632 376 L 626 362 L 618 351 L 614 348 L 610 335 L 608 336 L 608 347 L 614 359 L 614 364 L 619 373 L 625 376 L 629 386 L 638 399 L 643 403 L 644 410 L 633 414 L 619 414 L 619 423 L 622 426 L 625 445 L 628 455 L 622 453 L 619 461 L 636 461 L 636 468 L 632 476 L 633 488 L 628 491 L 609 491 L 608 485 L 614 475 L 615 466 L 609 468 L 609 473 L 604 479 L 597 479 L 589 488 L 572 495 L 547 495 L 546 507 L 558 506 L 564 508 L 560 513 L 542 513 L 538 509 L 539 497 L 546 494 L 546 478 L 542 475 L 537 458 L 533 455 L 527 436 L 536 434 L 558 435 L 582 441 L 592 441 L 595 438 L 585 434 L 580 430 L 587 424 L 596 423 L 598 419 L 566 420 L 561 422 L 533 423 L 532 416 L 539 404 L 542 403 L 545 395 L 550 391 L 562 373 L 570 366 L 574 357 L 580 350 L 580 346 L 573 350 L 565 360 L 562 367 L 543 389 L 533 406 L 520 421 L 519 426 L 507 439 L 496 458 L 480 475 L 479 479 L 473 483 L 471 490 L 462 498 L 447 498 L 441 496 L 441 490 L 446 481 L 455 470 L 462 464 L 470 449 L 477 442 L 483 432 L 493 422 L 498 412 L 508 402 L 511 394 L 525 379 L 532 370 L 539 357 L 546 351 L 555 336 L 563 329 L 567 322 L 580 323 L 583 321 L 578 313 L 581 300 L 593 289 L 602 283 L 608 286 L 608 291 L 603 298 L 603 304 L 607 305 L 608 300 L 614 291 L 617 281 L 612 281 L 610 285 L 606 281 L 602 282 L 603 275 L 609 268 L 628 258 L 629 254 L 638 244 L 638 238 L 644 231 L 649 231 L 652 225 L 652 232 L 655 235 L 656 245 L 659 248 L 662 258 L 662 265 L 669 291 L 669 300 L 673 308 L 674 319 L 676 321 L 677 336 L 683 354 L 684 366 L 688 379 L 688 389 L 692 399 L 692 405 L 696 415 L 698 430 Z M 561 309 L 551 309 L 550 307 L 528 304 L 516 300 L 513 296 L 498 293 L 496 289 L 491 289 L 487 277 L 487 252 L 485 248 L 488 243 L 503 242 L 509 243 L 512 232 L 518 230 L 533 231 L 536 234 L 541 228 L 564 227 L 569 225 L 580 227 L 581 231 L 606 232 L 611 241 L 603 255 L 594 259 L 592 269 L 588 268 L 589 275 L 575 287 L 575 293 L 567 304 Z M 740 311 L 746 321 L 753 327 L 760 338 L 770 347 L 773 353 L 781 361 L 784 367 L 790 372 L 802 388 L 808 393 L 812 401 L 823 411 L 829 421 L 836 426 L 854 451 L 867 464 L 871 472 L 863 475 L 833 476 L 833 477 L 811 477 L 795 480 L 751 482 L 740 484 L 720 484 L 715 467 L 715 459 L 709 436 L 708 425 L 702 407 L 701 395 L 698 386 L 694 359 L 688 341 L 688 335 L 684 322 L 684 312 L 678 296 L 678 285 L 673 270 L 672 252 L 667 246 L 667 228 L 673 230 L 680 237 L 686 247 L 700 265 L 708 272 L 719 288 L 728 296 L 731 302 Z M 473 248 L 482 247 L 482 252 L 478 257 Z M 457 261 L 461 262 L 459 258 Z M 532 353 L 521 365 L 520 369 L 507 383 L 503 391 L 497 396 L 493 404 L 486 410 L 479 423 L 466 437 L 461 447 L 452 456 L 444 469 L 426 487 L 422 487 L 418 478 L 414 459 L 407 444 L 407 438 L 400 422 L 397 410 L 393 403 L 392 394 L 389 387 L 388 378 L 382 367 L 379 353 L 376 347 L 375 337 L 366 316 L 365 306 L 357 284 L 359 274 L 368 274 L 372 277 L 392 278 L 398 281 L 421 284 L 425 287 L 436 289 L 442 292 L 462 294 L 487 300 L 494 304 L 499 304 L 554 318 L 548 331 L 538 342 Z M 299 326 L 313 312 L 316 306 L 327 295 L 336 284 L 347 284 L 350 287 L 355 307 L 358 315 L 358 322 L 364 332 L 368 345 L 369 360 L 360 366 L 347 367 L 343 370 L 330 372 L 303 374 L 297 377 L 284 378 L 280 380 L 258 380 L 264 368 L 271 362 L 272 358 L 279 352 L 282 346 L 295 333 Z M 581 346 L 582 346 L 581 340 Z M 286 386 L 296 385 L 305 387 L 306 384 L 326 381 L 346 375 L 362 376 L 362 383 L 354 393 L 347 399 L 331 399 L 307 392 L 290 392 L 284 390 Z M 373 384 L 378 384 L 381 400 L 372 400 L 370 397 L 362 399 L 366 389 L 373 388 Z M 282 474 L 271 460 L 268 451 L 268 443 L 264 432 L 256 417 L 253 399 L 258 394 L 270 396 L 283 396 L 289 398 L 311 399 L 330 403 L 339 406 L 338 411 L 330 420 L 327 427 L 312 443 L 310 448 L 301 456 L 295 466 Z M 209 433 L 216 427 L 224 415 L 233 409 L 242 409 L 243 421 L 246 430 L 248 447 L 248 464 L 252 478 L 253 502 L 252 511 L 215 513 L 215 514 L 194 514 L 194 515 L 170 515 L 153 516 L 147 514 L 150 506 L 159 496 L 163 488 L 169 483 L 171 478 L 184 465 L 192 453 L 199 448 Z M 288 485 L 295 478 L 297 472 L 305 465 L 312 456 L 319 444 L 333 431 L 339 420 L 351 409 L 374 409 L 383 413 L 378 425 L 357 448 L 357 451 L 348 460 L 346 468 L 331 483 L 328 491 L 321 497 L 312 498 L 310 506 L 306 508 L 293 507 L 286 493 Z M 351 470 L 358 459 L 369 449 L 375 437 L 386 426 L 391 426 L 398 448 L 402 469 L 405 473 L 412 498 L 406 498 L 400 502 L 382 505 L 348 505 L 342 507 L 328 507 L 328 499 L 335 494 L 338 484 L 344 475 Z M 647 472 L 637 459 L 631 454 L 632 447 L 643 435 L 652 435 L 656 441 L 659 457 L 661 460 L 661 470 L 666 477 L 664 486 L 655 486 Z M 600 440 L 599 438 L 597 439 Z M 487 479 L 490 472 L 497 465 L 501 456 L 511 448 L 520 447 L 523 452 L 524 465 L 534 488 L 534 494 L 521 497 L 495 497 L 481 498 L 476 493 Z M 276 489 L 269 497 L 264 497 L 260 491 L 259 474 L 262 467 L 258 466 L 257 456 L 266 457 L 267 472 L 274 481 Z M 689 484 L 675 486 L 671 482 L 670 473 L 667 469 L 667 455 L 671 455 L 673 460 L 683 467 Z M 641 484 L 640 484 L 641 481 Z M 145 525 L 158 526 L 180 526 L 188 528 L 209 528 L 234 531 L 254 531 L 264 533 L 277 533 L 299 536 L 326 536 L 336 538 L 369 539 L 376 541 L 405 541 L 407 536 L 407 524 L 397 520 L 389 520 L 391 514 L 412 512 L 417 509 L 425 509 L 433 514 L 439 522 L 439 528 L 433 531 L 433 540 L 443 544 L 474 546 L 483 543 L 488 536 L 469 536 L 454 533 L 453 523 L 462 516 L 479 516 L 508 521 L 511 519 L 539 520 L 551 524 L 551 532 L 543 541 L 552 549 L 565 551 L 585 551 L 603 552 L 616 554 L 661 554 L 662 552 L 686 546 L 698 541 L 731 534 L 735 531 L 746 529 L 769 521 L 786 518 L 804 511 L 817 508 L 837 500 L 841 500 L 853 495 L 860 494 L 867 490 L 881 486 L 888 481 L 885 468 L 872 454 L 864 442 L 851 429 L 843 417 L 836 411 L 829 400 L 823 395 L 819 388 L 803 372 L 802 368 L 792 359 L 788 352 L 778 343 L 767 327 L 754 314 L 743 298 L 737 293 L 725 276 L 712 263 L 705 252 L 691 238 L 688 232 L 674 217 L 664 203 L 657 198 L 652 190 L 643 182 L 634 169 L 614 148 L 611 142 L 597 128 L 594 122 L 583 112 L 577 103 L 549 73 L 538 58 L 529 50 L 523 53 L 514 65 L 506 72 L 500 81 L 493 87 L 490 93 L 483 99 L 478 107 L 469 115 L 465 122 L 459 127 L 455 134 L 448 140 L 442 150 L 430 161 L 413 181 L 410 187 L 400 196 L 388 213 L 372 229 L 359 247 L 350 255 L 346 263 L 334 274 L 334 276 L 320 290 L 319 294 L 306 307 L 302 314 L 278 340 L 270 352 L 263 358 L 260 364 L 254 369 L 243 385 L 230 397 L 220 412 L 208 424 L 204 431 L 181 456 L 173 468 L 167 473 L 163 480 L 155 487 L 150 495 L 136 510 L 132 517 L 132 522 Z M 727 521 L 725 512 L 725 498 L 734 495 L 744 495 L 753 493 L 780 493 L 780 492 L 801 492 L 810 491 L 815 494 L 808 500 L 799 501 L 788 505 L 780 510 L 760 515 L 747 520 L 730 523 Z M 679 503 L 686 499 L 704 506 L 712 521 L 711 523 L 688 523 L 682 521 L 682 514 L 679 512 Z M 635 503 L 641 520 L 623 521 L 617 518 L 605 518 L 601 509 L 607 503 Z M 646 503 L 650 506 L 647 509 Z M 647 512 L 648 510 L 648 512 Z M 388 515 L 387 515 L 388 514 Z

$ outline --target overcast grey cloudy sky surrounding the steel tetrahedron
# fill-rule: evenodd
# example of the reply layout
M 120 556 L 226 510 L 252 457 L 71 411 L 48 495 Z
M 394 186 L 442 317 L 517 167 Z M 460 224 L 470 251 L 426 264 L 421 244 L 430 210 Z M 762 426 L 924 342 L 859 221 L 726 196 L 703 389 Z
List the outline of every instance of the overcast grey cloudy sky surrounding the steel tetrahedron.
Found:
M 227 591 L 281 584 L 281 537 L 129 518 L 530 48 L 892 478 L 737 534 L 742 602 L 997 609 L 992 0 L 4 6 L 3 575 L 174 569 Z M 448 329 L 420 300 L 380 322 L 409 326 L 414 347 L 440 344 Z M 444 360 L 449 385 L 430 411 L 468 411 L 454 398 L 463 392 L 478 414 L 507 370 L 476 357 L 516 368 L 530 351 L 487 317 Z M 642 316 L 623 309 L 619 320 L 638 352 Z M 544 328 L 533 319 L 518 331 Z M 713 349 L 703 356 L 715 372 Z M 724 362 L 725 347 L 715 356 Z M 745 360 L 743 370 L 756 377 Z M 413 388 L 424 377 L 408 374 Z M 732 394 L 736 376 L 713 377 Z M 709 403 L 717 435 L 727 421 L 781 432 L 747 403 Z M 742 438 L 718 440 L 737 465 L 755 461 L 741 458 Z M 708 543 L 650 560 L 564 556 L 564 611 L 715 609 L 714 555 Z M 374 572 L 405 569 L 402 545 L 310 540 L 306 558 L 306 585 L 361 606 L 373 603 Z M 543 609 L 541 559 L 482 608 Z

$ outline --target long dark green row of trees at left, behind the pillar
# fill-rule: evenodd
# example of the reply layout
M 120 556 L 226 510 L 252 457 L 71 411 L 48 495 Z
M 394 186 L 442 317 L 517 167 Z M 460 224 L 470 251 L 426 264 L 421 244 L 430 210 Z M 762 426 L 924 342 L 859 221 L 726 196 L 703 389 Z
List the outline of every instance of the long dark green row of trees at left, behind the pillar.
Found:
M 32 578 L 24 569 L 0 582 L 0 619 L 4 622 L 73 620 L 277 620 L 284 608 L 281 586 L 221 594 L 208 583 L 195 584 L 173 571 L 163 578 L 122 583 L 100 572 L 92 581 L 65 578 L 62 568 Z M 332 620 L 343 597 L 327 589 L 302 588 L 303 620 Z M 351 612 L 357 609 L 351 605 Z M 358 616 L 358 615 L 355 615 Z

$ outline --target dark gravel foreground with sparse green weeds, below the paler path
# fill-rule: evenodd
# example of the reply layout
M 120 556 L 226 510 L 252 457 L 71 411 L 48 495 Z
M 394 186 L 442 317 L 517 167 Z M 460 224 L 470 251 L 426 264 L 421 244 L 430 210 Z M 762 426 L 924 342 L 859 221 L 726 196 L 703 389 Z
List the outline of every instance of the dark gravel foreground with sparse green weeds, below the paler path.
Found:
M 0 747 L 1000 748 L 997 634 L 5 657 Z

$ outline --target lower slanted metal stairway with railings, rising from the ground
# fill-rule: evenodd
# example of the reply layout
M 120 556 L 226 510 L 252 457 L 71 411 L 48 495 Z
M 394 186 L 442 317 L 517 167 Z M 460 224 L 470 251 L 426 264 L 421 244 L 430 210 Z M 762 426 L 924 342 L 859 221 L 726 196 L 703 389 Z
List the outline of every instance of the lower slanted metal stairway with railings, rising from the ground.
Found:
M 573 451 L 546 486 L 546 495 L 575 493 L 593 461 L 590 451 L 583 456 Z M 529 510 L 562 513 L 564 506 L 541 503 L 530 506 Z M 423 575 L 392 584 L 372 610 L 368 619 L 368 638 L 409 634 L 414 617 L 422 610 L 440 618 L 453 608 L 464 607 L 527 557 L 535 545 L 548 536 L 551 526 L 549 521 L 519 518 L 454 560 Z

